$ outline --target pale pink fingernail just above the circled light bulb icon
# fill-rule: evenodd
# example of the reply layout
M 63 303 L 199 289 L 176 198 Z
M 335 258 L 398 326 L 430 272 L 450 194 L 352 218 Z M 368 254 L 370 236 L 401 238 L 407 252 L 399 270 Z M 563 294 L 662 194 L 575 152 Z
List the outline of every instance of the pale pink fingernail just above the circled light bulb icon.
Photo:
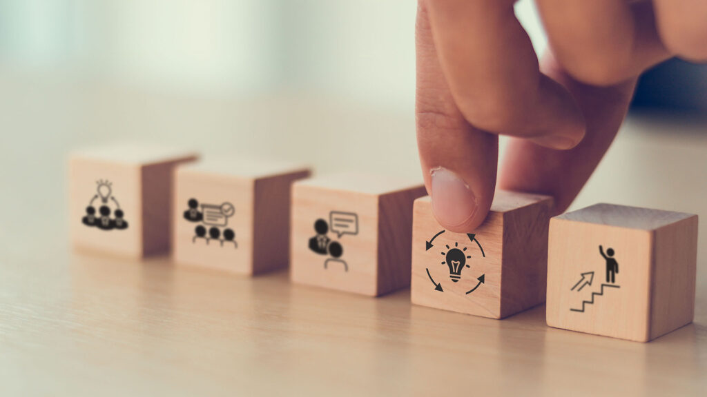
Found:
M 477 211 L 477 198 L 464 180 L 442 167 L 431 173 L 432 211 L 437 220 L 454 227 L 472 218 Z

